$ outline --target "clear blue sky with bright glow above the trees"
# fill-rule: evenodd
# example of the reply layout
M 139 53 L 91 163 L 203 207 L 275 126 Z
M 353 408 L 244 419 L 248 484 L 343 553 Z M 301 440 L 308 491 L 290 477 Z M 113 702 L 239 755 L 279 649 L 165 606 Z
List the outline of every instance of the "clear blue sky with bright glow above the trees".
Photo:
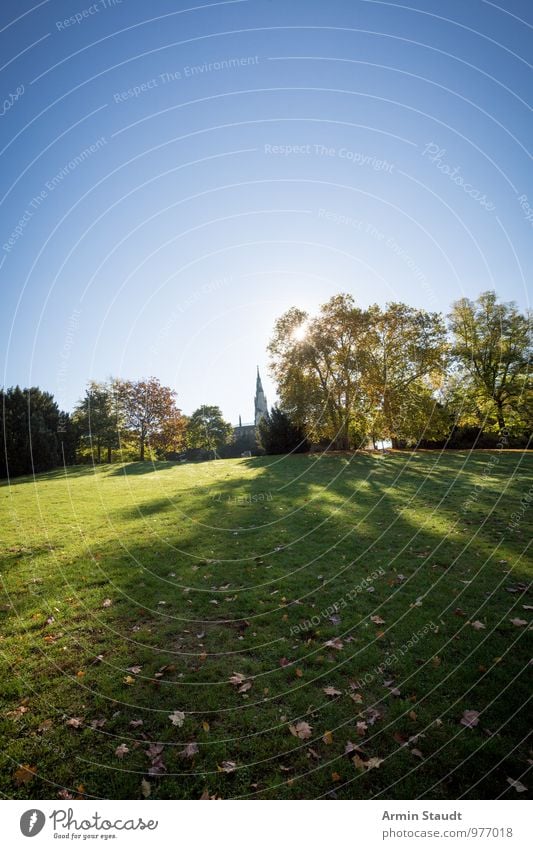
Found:
M 0 384 L 253 417 L 292 305 L 528 306 L 529 0 L 2 0 Z

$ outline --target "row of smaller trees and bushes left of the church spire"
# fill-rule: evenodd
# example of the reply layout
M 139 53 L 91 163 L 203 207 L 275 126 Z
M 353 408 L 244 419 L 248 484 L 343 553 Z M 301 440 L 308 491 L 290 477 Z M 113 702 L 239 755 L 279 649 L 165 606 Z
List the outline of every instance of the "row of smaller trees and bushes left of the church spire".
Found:
M 91 381 L 71 414 L 38 387 L 0 391 L 0 477 L 48 471 L 78 461 L 211 456 L 232 438 L 220 409 L 182 415 L 176 393 L 157 378 Z

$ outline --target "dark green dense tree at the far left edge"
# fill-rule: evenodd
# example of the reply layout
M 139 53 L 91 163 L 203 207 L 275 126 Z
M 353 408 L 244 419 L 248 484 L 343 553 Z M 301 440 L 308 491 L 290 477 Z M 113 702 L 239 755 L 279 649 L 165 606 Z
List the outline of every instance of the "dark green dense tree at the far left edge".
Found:
M 0 477 L 16 477 L 55 468 L 61 462 L 60 413 L 53 395 L 37 386 L 0 391 L 3 451 Z

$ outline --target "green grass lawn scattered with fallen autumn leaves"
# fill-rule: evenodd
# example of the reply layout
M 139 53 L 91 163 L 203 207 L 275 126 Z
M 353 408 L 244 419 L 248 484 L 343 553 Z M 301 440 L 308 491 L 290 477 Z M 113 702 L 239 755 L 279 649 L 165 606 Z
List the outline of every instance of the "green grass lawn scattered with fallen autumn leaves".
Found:
M 1 486 L 0 792 L 525 798 L 532 470 L 398 452 Z

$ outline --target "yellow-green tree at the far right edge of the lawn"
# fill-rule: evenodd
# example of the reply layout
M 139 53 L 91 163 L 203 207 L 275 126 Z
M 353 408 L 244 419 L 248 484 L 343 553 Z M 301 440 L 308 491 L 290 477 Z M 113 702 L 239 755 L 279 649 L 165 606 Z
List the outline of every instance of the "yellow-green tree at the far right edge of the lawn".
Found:
M 525 426 L 529 416 L 531 424 L 529 317 L 514 303 L 499 303 L 489 291 L 476 301 L 456 301 L 449 322 L 458 379 L 480 424 L 491 412 L 500 432 L 517 415 Z

